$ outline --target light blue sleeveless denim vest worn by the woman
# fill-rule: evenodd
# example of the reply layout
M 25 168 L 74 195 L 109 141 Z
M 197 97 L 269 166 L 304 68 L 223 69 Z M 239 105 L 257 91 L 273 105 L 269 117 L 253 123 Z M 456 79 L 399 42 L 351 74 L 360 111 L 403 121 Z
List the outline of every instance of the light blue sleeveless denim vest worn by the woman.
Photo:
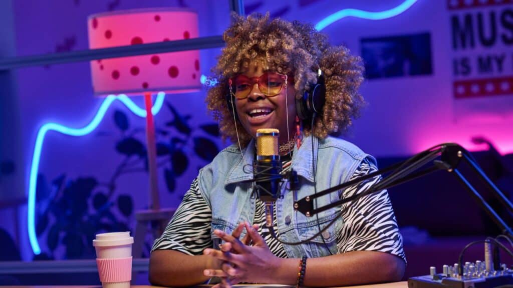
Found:
M 322 191 L 337 184 L 346 182 L 359 167 L 365 157 L 375 163 L 375 159 L 365 154 L 351 143 L 334 137 L 318 139 L 304 137 L 301 148 L 294 148 L 292 155 L 292 169 L 299 176 L 300 189 L 292 192 L 286 189 L 287 183 L 282 185 L 282 197 L 274 205 L 278 223 L 279 239 L 286 242 L 299 242 L 310 238 L 319 232 L 317 217 L 306 217 L 294 211 L 294 198 L 301 199 L 314 193 L 312 172 L 312 140 L 313 157 L 317 173 L 317 191 Z M 254 139 L 243 150 L 247 164 L 251 165 L 254 159 Z M 221 243 L 213 234 L 219 229 L 231 234 L 237 224 L 243 221 L 253 223 L 255 212 L 255 193 L 252 183 L 240 183 L 243 180 L 253 179 L 252 168 L 246 167 L 238 145 L 231 145 L 221 151 L 213 161 L 200 170 L 199 188 L 212 211 L 211 236 L 214 248 Z M 322 207 L 340 199 L 342 191 L 333 192 L 317 199 L 317 207 Z M 340 205 L 319 213 L 319 224 L 324 228 L 340 212 Z M 285 252 L 289 258 L 321 257 L 337 253 L 337 231 L 344 220 L 339 217 L 336 223 L 322 233 L 322 236 L 301 245 L 284 244 Z M 241 235 L 241 238 L 244 236 Z M 323 241 L 323 237 L 324 241 Z M 327 245 L 324 244 L 326 242 Z

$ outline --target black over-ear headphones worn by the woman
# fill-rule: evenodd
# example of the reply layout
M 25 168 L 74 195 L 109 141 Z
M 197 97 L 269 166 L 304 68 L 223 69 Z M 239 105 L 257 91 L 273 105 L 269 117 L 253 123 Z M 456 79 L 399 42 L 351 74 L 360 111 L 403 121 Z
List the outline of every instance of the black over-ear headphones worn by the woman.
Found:
M 226 107 L 238 118 L 235 109 L 234 95 L 231 93 L 231 80 L 228 81 L 228 93 L 225 95 Z M 324 73 L 321 69 L 317 72 L 317 83 L 310 84 L 310 89 L 305 90 L 301 98 L 295 99 L 295 111 L 301 120 L 310 120 L 313 113 L 322 112 L 324 102 L 326 101 L 326 86 L 324 84 Z

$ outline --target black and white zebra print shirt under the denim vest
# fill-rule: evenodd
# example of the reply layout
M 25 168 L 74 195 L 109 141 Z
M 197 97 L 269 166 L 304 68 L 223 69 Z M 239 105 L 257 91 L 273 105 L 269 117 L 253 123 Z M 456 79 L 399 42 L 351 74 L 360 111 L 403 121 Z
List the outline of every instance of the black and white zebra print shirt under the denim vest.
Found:
M 351 176 L 351 180 L 376 170 L 365 159 Z M 344 191 L 343 197 L 358 194 L 380 179 L 380 176 L 373 177 L 349 187 Z M 283 245 L 272 238 L 269 230 L 265 228 L 264 203 L 257 198 L 256 204 L 253 223 L 259 224 L 259 234 L 274 255 L 287 258 Z M 338 253 L 379 251 L 399 256 L 406 261 L 403 240 L 386 190 L 345 203 L 341 209 L 344 225 L 337 235 Z M 151 250 L 176 250 L 188 255 L 201 255 L 204 249 L 212 247 L 211 221 L 210 208 L 199 191 L 198 178 L 195 178 L 166 230 L 155 240 Z M 274 231 L 279 236 L 276 217 Z

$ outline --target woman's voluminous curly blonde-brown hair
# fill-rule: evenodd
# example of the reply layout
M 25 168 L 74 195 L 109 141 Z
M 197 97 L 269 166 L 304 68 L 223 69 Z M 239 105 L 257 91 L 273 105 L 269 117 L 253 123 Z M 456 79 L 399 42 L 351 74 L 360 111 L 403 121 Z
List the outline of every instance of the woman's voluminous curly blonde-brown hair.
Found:
M 223 139 L 237 141 L 237 125 L 241 145 L 245 147 L 251 140 L 239 119 L 234 122 L 226 95 L 228 79 L 240 73 L 245 61 L 255 59 L 265 59 L 269 69 L 292 76 L 297 98 L 317 82 L 317 70 L 323 70 L 326 101 L 322 115 L 315 118 L 314 136 L 324 139 L 339 135 L 351 126 L 352 118 L 358 116 L 364 104 L 358 92 L 363 81 L 360 57 L 350 55 L 346 47 L 330 46 L 326 35 L 308 24 L 270 19 L 269 13 L 251 14 L 247 18 L 232 14 L 232 17 L 231 26 L 223 34 L 226 47 L 212 69 L 218 83 L 209 89 L 206 97 L 208 109 L 219 121 Z M 310 134 L 310 125 L 305 121 L 305 135 Z

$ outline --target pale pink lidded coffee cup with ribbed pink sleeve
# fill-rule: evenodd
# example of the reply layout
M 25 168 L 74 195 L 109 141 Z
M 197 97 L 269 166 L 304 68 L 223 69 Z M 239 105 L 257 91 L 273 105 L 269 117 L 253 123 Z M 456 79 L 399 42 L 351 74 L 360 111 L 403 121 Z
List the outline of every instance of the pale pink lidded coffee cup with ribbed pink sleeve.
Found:
M 130 232 L 96 234 L 93 246 L 103 288 L 129 288 L 132 276 Z

